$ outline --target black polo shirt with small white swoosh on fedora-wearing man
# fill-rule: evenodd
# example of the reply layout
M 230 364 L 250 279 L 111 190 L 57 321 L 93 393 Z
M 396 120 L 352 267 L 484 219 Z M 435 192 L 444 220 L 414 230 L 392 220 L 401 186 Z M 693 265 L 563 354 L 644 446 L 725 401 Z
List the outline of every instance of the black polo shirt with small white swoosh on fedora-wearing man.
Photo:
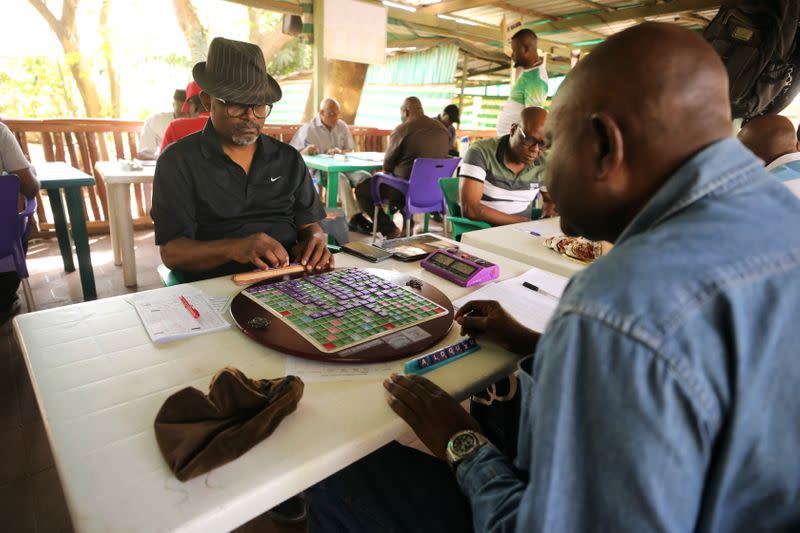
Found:
M 264 232 L 290 250 L 297 227 L 324 219 L 325 209 L 297 150 L 261 135 L 245 174 L 222 151 L 209 120 L 158 158 L 150 214 L 157 245 L 179 237 L 214 241 Z M 203 277 L 252 268 L 231 263 Z

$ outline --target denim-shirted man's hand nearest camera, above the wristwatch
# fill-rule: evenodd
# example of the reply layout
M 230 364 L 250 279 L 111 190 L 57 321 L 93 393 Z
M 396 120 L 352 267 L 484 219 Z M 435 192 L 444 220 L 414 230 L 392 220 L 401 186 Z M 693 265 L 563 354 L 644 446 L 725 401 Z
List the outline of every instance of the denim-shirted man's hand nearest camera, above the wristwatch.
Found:
M 389 407 L 440 459 L 447 459 L 447 442 L 456 432 L 481 429 L 452 396 L 428 379 L 392 374 L 383 386 L 389 391 Z

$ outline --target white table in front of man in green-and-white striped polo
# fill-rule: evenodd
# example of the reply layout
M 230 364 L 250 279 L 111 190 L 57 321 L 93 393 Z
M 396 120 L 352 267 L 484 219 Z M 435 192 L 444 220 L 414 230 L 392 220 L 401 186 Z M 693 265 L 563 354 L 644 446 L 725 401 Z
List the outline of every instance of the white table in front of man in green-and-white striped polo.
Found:
M 542 236 L 531 235 L 531 231 Z M 556 217 L 470 231 L 461 236 L 461 242 L 570 277 L 586 266 L 567 259 L 542 244 L 546 237 L 561 233 L 560 218 Z

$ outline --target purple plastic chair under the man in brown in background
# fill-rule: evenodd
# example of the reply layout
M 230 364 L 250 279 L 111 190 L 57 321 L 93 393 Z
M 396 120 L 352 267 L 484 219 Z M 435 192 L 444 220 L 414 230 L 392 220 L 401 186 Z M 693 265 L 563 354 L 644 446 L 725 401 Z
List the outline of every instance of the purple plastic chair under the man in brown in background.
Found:
M 440 178 L 449 178 L 453 175 L 461 158 L 453 157 L 449 159 L 425 159 L 414 160 L 411 167 L 411 175 L 407 180 L 387 174 L 386 172 L 376 172 L 372 176 L 372 201 L 375 204 L 375 211 L 372 214 L 372 239 L 378 233 L 378 209 L 383 205 L 381 198 L 381 185 L 386 185 L 403 193 L 406 203 L 401 209 L 403 214 L 403 224 L 405 225 L 406 235 L 411 236 L 411 217 L 415 213 L 425 213 L 425 231 L 428 226 L 428 213 L 445 213 L 447 205 L 439 188 Z

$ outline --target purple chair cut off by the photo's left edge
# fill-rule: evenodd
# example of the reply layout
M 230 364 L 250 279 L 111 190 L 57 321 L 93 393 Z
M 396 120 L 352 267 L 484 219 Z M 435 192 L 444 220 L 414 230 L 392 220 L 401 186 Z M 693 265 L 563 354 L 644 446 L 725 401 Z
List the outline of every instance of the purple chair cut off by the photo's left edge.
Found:
M 17 211 L 19 196 L 19 176 L 6 174 L 0 176 L 0 266 L 13 265 L 22 280 L 22 292 L 28 311 L 33 311 L 33 293 L 28 282 L 28 265 L 25 263 L 25 249 L 22 243 L 31 233 L 31 217 L 36 212 L 36 198 L 31 198 L 21 213 Z M 8 270 L 6 270 L 8 271 Z

